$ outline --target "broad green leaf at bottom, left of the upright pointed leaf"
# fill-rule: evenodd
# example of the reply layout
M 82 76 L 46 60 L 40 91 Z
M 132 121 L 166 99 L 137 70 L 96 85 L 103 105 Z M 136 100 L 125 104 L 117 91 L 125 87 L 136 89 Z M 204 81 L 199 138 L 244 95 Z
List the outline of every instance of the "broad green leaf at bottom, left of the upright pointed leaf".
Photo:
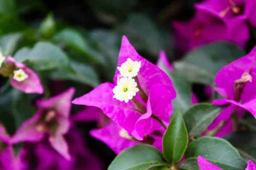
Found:
M 139 144 L 123 150 L 111 162 L 108 170 L 147 170 L 165 164 L 167 163 L 157 148 Z

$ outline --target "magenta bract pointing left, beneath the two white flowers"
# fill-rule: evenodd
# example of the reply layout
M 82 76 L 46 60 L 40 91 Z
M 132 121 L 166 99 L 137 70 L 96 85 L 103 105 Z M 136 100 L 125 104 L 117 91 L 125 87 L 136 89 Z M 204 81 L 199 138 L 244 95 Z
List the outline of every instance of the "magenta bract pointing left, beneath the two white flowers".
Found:
M 101 108 L 103 113 L 117 122 L 129 133 L 134 131 L 135 123 L 140 117 L 131 101 L 128 103 L 120 102 L 113 98 L 111 83 L 103 83 L 88 94 L 73 100 L 73 104 L 87 105 Z

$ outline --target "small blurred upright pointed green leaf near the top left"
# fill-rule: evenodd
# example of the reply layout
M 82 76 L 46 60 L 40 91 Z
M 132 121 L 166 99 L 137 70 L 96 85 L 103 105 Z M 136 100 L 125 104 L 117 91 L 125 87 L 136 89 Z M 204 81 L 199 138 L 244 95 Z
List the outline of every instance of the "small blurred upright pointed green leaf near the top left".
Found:
M 53 36 L 56 31 L 56 23 L 52 13 L 48 14 L 42 21 L 39 31 L 46 38 L 51 38 Z

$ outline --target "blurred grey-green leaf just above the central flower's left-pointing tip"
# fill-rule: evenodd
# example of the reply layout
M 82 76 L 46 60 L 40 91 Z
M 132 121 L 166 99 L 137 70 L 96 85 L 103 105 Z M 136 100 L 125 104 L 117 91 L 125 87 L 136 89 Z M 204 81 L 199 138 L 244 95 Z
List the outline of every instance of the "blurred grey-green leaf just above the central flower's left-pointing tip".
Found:
M 94 68 L 92 68 L 90 65 L 85 65 L 74 61 L 70 61 L 70 64 L 74 72 L 65 70 L 52 71 L 50 73 L 50 78 L 81 82 L 91 85 L 94 88 L 99 85 L 99 77 Z

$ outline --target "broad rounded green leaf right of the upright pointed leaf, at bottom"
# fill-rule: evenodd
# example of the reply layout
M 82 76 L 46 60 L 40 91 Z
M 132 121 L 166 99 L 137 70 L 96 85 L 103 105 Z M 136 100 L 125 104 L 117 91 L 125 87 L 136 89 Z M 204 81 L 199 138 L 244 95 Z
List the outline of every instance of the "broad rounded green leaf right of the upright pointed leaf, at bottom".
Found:
M 224 170 L 244 170 L 247 166 L 236 148 L 221 138 L 204 136 L 191 142 L 185 152 L 186 161 L 181 163 L 180 167 L 186 170 L 199 170 L 198 156 Z

